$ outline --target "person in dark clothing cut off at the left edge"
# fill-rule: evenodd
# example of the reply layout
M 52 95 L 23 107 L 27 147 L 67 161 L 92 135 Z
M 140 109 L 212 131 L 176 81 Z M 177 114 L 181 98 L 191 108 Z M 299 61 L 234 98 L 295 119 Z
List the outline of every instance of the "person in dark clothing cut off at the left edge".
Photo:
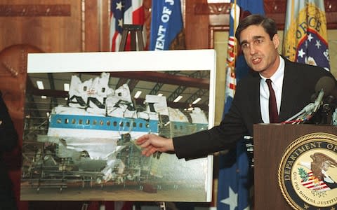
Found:
M 4 153 L 13 150 L 17 145 L 18 134 L 0 92 L 0 210 L 17 209 L 13 186 L 3 160 Z

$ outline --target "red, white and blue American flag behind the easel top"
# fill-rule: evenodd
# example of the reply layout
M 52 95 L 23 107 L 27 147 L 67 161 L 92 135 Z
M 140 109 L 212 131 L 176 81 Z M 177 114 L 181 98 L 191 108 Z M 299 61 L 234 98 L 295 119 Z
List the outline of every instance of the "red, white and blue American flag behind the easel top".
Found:
M 110 11 L 110 50 L 119 51 L 123 25 L 144 25 L 143 0 L 112 0 Z M 128 36 L 126 51 L 131 49 L 130 43 Z

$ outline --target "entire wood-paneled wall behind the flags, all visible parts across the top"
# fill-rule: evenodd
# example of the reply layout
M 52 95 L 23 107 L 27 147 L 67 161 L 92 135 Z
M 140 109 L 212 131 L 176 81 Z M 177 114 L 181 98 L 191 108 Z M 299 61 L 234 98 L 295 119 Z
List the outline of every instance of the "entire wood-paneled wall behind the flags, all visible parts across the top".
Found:
M 324 1 L 329 29 L 337 28 L 333 1 Z M 213 48 L 213 32 L 229 27 L 230 3 L 182 2 L 186 48 Z M 149 35 L 151 0 L 144 3 Z M 109 51 L 109 4 L 110 0 L 2 0 L 0 50 L 29 44 L 44 52 Z M 265 0 L 265 13 L 277 21 L 279 29 L 284 27 L 285 12 L 286 0 Z

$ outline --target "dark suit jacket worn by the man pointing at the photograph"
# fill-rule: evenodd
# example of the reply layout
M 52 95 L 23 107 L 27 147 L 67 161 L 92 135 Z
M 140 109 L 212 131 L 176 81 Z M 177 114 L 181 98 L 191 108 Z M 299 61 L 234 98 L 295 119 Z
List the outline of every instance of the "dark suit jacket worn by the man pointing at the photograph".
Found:
M 329 71 L 321 67 L 290 62 L 285 58 L 284 61 L 279 111 L 281 122 L 310 104 L 319 78 L 333 78 Z M 178 158 L 199 158 L 232 148 L 244 135 L 253 136 L 253 124 L 256 123 L 263 123 L 260 113 L 260 76 L 251 72 L 237 84 L 232 106 L 220 125 L 211 130 L 173 138 L 176 155 Z

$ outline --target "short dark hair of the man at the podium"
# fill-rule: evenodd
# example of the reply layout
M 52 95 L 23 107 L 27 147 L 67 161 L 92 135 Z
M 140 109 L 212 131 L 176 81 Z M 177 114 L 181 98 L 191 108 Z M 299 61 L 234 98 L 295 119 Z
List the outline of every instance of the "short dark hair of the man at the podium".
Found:
M 237 38 L 237 41 L 241 44 L 240 41 L 240 34 L 241 31 L 246 29 L 247 27 L 251 25 L 261 25 L 267 34 L 270 36 L 270 40 L 272 40 L 272 37 L 274 37 L 275 34 L 277 34 L 277 26 L 275 20 L 272 20 L 272 18 L 265 18 L 263 15 L 249 15 L 246 18 L 244 18 L 241 22 L 239 22 L 239 26 L 237 27 L 237 31 L 235 32 L 235 37 Z

